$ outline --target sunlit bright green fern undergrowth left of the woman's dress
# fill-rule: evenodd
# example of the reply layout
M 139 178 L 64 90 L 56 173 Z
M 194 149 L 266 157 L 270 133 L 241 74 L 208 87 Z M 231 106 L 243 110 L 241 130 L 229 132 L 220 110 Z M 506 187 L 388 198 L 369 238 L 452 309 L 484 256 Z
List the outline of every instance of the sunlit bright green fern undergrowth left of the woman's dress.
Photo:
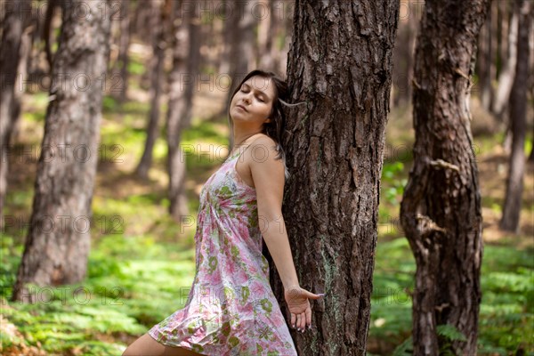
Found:
M 125 344 L 99 339 L 142 335 L 183 306 L 194 276 L 191 249 L 150 236 L 107 236 L 93 246 L 83 283 L 30 287 L 36 303 L 8 302 L 19 263 L 11 258 L 2 264 L 0 312 L 23 340 L 3 334 L 3 348 L 24 342 L 51 354 L 120 354 Z

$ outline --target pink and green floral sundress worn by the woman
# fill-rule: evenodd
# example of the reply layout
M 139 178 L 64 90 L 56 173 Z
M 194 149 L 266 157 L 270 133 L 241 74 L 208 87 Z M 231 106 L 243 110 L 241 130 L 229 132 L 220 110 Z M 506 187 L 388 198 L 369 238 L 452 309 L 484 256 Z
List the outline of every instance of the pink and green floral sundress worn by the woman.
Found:
M 185 306 L 149 334 L 203 355 L 293 356 L 262 255 L 256 192 L 235 168 L 243 151 L 231 154 L 202 187 L 190 293 Z

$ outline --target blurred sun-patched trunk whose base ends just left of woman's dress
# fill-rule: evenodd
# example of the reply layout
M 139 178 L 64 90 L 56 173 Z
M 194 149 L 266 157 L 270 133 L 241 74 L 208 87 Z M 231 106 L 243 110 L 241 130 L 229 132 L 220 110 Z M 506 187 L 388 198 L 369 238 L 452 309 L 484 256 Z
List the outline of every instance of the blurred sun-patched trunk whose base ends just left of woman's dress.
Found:
M 184 31 L 182 36 L 180 33 Z M 166 117 L 167 172 L 169 174 L 169 213 L 180 222 L 189 214 L 185 195 L 185 156 L 180 149 L 182 131 L 190 125 L 193 93 L 200 57 L 200 25 L 187 18 L 174 32 L 173 69 L 169 77 L 169 103 Z M 187 47 L 184 46 L 187 42 Z M 187 48 L 187 52 L 183 50 Z

